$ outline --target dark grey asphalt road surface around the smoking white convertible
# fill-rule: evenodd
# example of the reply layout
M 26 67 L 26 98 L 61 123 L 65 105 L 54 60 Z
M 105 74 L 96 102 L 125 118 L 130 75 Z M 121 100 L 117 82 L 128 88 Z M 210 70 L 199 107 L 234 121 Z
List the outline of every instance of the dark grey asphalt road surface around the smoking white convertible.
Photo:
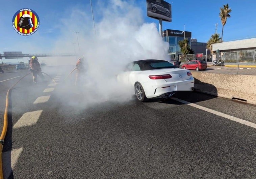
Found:
M 74 74 L 65 81 L 71 70 L 43 69 L 59 78 L 56 86 L 50 78 L 33 84 L 29 75 L 11 90 L 6 178 L 255 178 L 255 105 L 197 92 L 88 104 L 88 94 L 72 85 Z M 0 74 L 0 100 L 29 72 Z M 36 103 L 42 96 L 49 99 Z M 3 116 L 5 102 L 0 109 Z M 36 111 L 35 123 L 17 127 Z

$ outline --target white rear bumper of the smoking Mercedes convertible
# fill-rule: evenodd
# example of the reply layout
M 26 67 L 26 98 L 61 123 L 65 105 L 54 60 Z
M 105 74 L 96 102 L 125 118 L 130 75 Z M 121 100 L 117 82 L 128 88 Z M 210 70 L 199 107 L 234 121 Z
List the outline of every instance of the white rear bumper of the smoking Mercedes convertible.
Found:
M 184 81 L 145 86 L 144 91 L 147 98 L 165 98 L 168 97 L 168 94 L 173 94 L 176 91 L 193 91 L 194 82 L 195 80 L 191 76 L 190 79 Z

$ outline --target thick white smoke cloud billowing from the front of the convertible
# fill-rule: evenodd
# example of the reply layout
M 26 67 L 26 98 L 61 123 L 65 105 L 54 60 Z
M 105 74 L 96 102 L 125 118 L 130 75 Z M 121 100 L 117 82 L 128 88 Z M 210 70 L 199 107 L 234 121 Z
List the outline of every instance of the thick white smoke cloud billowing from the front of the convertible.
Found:
M 116 74 L 122 72 L 128 62 L 140 59 L 169 60 L 168 43 L 162 41 L 155 23 L 143 22 L 141 9 L 134 4 L 111 0 L 107 7 L 99 4 L 94 13 L 102 16 L 100 21 L 95 22 L 96 34 L 91 11 L 84 12 L 73 8 L 70 17 L 61 20 L 62 29 L 65 31 L 56 41 L 54 49 L 55 53 L 70 52 L 73 49 L 71 42 L 77 43 L 76 34 L 72 31 L 79 31 L 79 46 L 81 54 L 86 58 L 88 69 L 81 89 L 83 95 L 79 99 L 81 109 L 99 102 L 131 99 L 133 89 L 121 86 L 116 81 Z M 55 59 L 55 63 L 75 67 L 76 60 L 59 58 Z M 75 77 L 73 75 L 70 78 Z M 73 84 L 68 86 L 63 93 L 75 88 Z M 77 101 L 72 102 L 69 99 L 63 103 L 76 107 L 78 105 Z

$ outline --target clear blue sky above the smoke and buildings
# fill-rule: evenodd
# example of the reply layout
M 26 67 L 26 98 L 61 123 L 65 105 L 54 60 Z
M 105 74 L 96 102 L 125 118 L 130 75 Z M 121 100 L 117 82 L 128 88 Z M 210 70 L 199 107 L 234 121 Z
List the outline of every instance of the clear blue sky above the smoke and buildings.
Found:
M 134 23 L 138 26 L 143 23 L 155 23 L 158 30 L 158 20 L 147 17 L 146 0 L 92 0 L 96 33 L 100 33 L 99 28 L 103 26 L 103 19 L 114 16 L 127 17 L 128 9 L 113 9 L 105 13 L 112 3 L 126 1 L 127 4 L 137 9 Z M 219 9 L 223 4 L 229 4 L 232 12 L 231 18 L 227 19 L 224 26 L 223 40 L 235 40 L 248 37 L 256 37 L 256 2 L 255 0 L 166 0 L 172 5 L 172 22 L 162 23 L 162 30 L 175 29 L 192 32 L 192 38 L 198 42 L 207 42 L 211 34 L 215 33 L 217 23 L 217 33 L 221 36 L 222 24 L 219 18 Z M 25 3 L 24 3 L 25 2 Z M 126 4 L 126 5 L 127 5 Z M 22 8 L 34 10 L 40 19 L 39 29 L 30 36 L 19 35 L 12 28 L 12 18 L 14 14 Z M 92 11 L 89 0 L 38 0 L 38 1 L 18 1 L 8 0 L 1 2 L 0 11 L 0 53 L 4 51 L 22 51 L 23 53 L 53 53 L 56 46 L 69 46 L 72 49 L 72 42 L 76 42 L 76 34 L 72 31 L 79 31 L 79 39 L 86 34 L 94 33 Z M 5 10 L 3 10 L 5 9 Z M 129 8 L 131 11 L 132 8 Z M 118 12 L 117 12 L 118 11 Z M 139 20 L 138 20 L 139 19 Z M 119 21 L 113 21 L 113 25 L 119 25 Z M 115 24 L 116 23 L 116 24 Z M 129 21 L 129 23 L 133 23 Z M 67 27 L 69 28 L 67 28 Z M 126 28 L 124 26 L 124 28 Z M 66 29 L 66 31 L 65 31 Z M 114 34 L 109 34 L 114 37 Z M 132 31 L 130 33 L 133 33 Z M 65 36 L 65 38 L 64 38 Z M 104 37 L 103 37 L 104 38 Z M 68 41 L 69 40 L 69 41 Z M 65 43 L 64 43 L 65 42 Z M 66 43 L 67 42 L 67 43 Z M 86 43 L 81 40 L 80 43 Z M 38 48 L 36 48 L 38 47 Z M 64 48 L 64 47 L 63 47 Z M 66 49 L 66 48 L 64 48 Z M 68 53 L 68 50 L 66 50 Z M 71 51 L 73 53 L 73 51 Z

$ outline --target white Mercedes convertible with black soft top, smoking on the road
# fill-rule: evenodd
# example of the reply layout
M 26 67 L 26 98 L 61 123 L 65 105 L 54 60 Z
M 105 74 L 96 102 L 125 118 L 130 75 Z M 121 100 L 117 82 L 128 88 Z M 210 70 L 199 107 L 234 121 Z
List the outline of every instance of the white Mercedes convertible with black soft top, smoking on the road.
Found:
M 136 98 L 168 98 L 177 91 L 193 91 L 194 78 L 189 70 L 177 68 L 164 60 L 138 60 L 117 75 L 118 82 L 134 87 Z

